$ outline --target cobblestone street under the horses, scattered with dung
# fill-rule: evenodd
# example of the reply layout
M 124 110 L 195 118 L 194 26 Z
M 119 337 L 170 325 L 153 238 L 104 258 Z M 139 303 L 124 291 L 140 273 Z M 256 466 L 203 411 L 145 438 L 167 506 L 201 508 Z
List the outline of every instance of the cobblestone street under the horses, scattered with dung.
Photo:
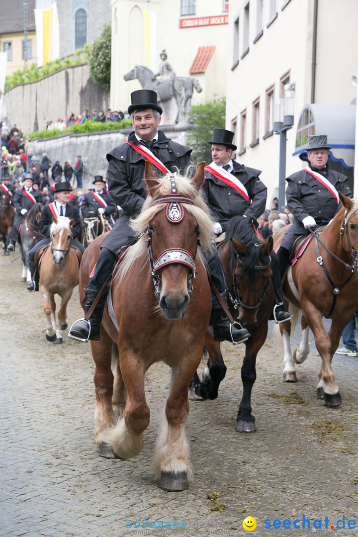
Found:
M 224 344 L 228 373 L 219 396 L 191 402 L 187 420 L 194 481 L 186 491 L 165 492 L 150 465 L 169 368 L 157 364 L 149 371 L 151 422 L 141 454 L 126 461 L 100 458 L 93 442 L 90 345 L 67 337 L 62 345 L 47 342 L 41 296 L 20 282 L 20 259 L 11 264 L 17 255 L 18 249 L 0 255 L 0 536 L 235 537 L 246 534 L 247 516 L 257 520 L 253 535 L 259 536 L 357 534 L 347 527 L 352 519 L 358 526 L 356 358 L 335 356 L 343 403 L 328 409 L 316 398 L 315 345 L 298 367 L 298 383 L 283 383 L 271 324 L 252 393 L 257 433 L 245 435 L 235 432 L 243 346 Z M 75 288 L 69 324 L 81 312 Z M 310 532 L 302 530 L 303 516 Z M 337 529 L 344 516 L 345 531 Z M 271 525 L 299 519 L 301 529 L 265 529 L 267 519 Z M 312 527 L 315 519 L 322 519 L 322 529 Z

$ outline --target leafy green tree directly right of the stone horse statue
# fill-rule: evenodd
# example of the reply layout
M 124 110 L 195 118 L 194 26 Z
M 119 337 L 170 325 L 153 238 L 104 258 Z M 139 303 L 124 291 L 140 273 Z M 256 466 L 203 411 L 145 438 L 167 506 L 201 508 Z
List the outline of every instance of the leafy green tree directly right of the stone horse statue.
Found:
M 192 120 L 195 127 L 188 134 L 188 146 L 193 148 L 193 161 L 211 162 L 209 142 L 213 140 L 215 129 L 225 128 L 225 99 L 215 99 L 210 103 L 193 106 Z

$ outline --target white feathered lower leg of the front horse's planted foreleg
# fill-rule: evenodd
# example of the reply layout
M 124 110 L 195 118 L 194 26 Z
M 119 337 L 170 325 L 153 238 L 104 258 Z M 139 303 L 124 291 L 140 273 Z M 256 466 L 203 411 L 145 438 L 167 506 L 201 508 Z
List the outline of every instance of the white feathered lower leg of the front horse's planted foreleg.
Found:
M 193 471 L 189 462 L 189 445 L 184 425 L 169 426 L 165 411 L 156 443 L 154 469 L 157 476 L 160 476 L 162 472 L 174 474 L 186 472 L 188 481 L 192 481 Z

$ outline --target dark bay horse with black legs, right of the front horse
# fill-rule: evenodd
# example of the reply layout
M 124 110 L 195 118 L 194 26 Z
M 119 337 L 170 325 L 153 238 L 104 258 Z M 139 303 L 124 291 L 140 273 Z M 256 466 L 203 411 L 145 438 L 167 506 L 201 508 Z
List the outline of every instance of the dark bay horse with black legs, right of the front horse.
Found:
M 219 246 L 219 252 L 229 289 L 230 313 L 250 332 L 241 368 L 243 397 L 236 424 L 238 432 L 249 433 L 256 431 L 255 418 L 251 413 L 256 357 L 266 340 L 274 300 L 270 258 L 273 240 L 269 237 L 265 242 L 257 233 L 252 220 L 243 216 L 235 216 L 229 221 L 226 237 Z M 205 345 L 209 354 L 208 364 L 202 382 L 196 373 L 192 379 L 189 396 L 193 400 L 215 399 L 227 370 L 220 343 L 214 341 L 210 330 Z M 239 346 L 238 350 L 241 349 L 242 346 Z

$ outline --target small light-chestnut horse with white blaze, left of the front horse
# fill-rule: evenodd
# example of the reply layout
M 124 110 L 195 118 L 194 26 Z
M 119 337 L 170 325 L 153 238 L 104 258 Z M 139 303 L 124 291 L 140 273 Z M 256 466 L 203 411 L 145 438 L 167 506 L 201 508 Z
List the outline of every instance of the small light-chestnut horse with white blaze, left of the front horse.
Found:
M 47 317 L 46 339 L 62 343 L 61 330 L 67 328 L 67 304 L 78 284 L 78 258 L 71 248 L 71 226 L 75 219 L 59 216 L 50 227 L 50 245 L 41 260 L 39 288 Z M 61 296 L 59 321 L 56 322 L 55 294 Z

